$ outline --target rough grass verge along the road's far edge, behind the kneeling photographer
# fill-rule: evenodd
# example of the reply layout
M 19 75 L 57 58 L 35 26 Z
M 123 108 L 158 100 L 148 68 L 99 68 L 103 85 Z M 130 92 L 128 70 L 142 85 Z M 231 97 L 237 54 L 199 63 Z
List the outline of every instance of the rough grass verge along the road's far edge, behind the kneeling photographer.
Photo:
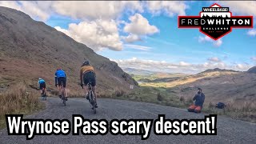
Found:
M 141 86 L 137 90 L 126 93 L 122 90 L 115 90 L 112 98 L 130 100 L 135 102 L 150 102 L 162 106 L 172 106 L 187 109 L 193 104 L 191 99 L 179 97 L 166 88 Z M 230 102 L 224 109 L 217 109 L 214 103 L 204 103 L 203 113 L 226 115 L 227 117 L 256 123 L 256 102 L 245 102 L 237 104 Z

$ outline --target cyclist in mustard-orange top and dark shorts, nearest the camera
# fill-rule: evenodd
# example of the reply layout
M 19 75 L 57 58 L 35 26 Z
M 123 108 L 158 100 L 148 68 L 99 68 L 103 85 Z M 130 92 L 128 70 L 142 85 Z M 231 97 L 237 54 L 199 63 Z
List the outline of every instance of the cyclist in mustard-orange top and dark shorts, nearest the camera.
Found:
M 97 108 L 97 94 L 96 94 L 96 74 L 94 72 L 94 67 L 90 65 L 90 62 L 85 60 L 82 63 L 81 69 L 80 69 L 80 82 L 81 82 L 81 86 L 83 88 L 83 83 L 85 84 L 86 88 L 85 93 L 86 93 L 86 99 L 89 100 L 89 95 L 87 93 L 87 84 L 89 83 L 89 81 L 91 82 L 91 86 L 92 86 L 92 90 L 95 96 L 95 107 Z

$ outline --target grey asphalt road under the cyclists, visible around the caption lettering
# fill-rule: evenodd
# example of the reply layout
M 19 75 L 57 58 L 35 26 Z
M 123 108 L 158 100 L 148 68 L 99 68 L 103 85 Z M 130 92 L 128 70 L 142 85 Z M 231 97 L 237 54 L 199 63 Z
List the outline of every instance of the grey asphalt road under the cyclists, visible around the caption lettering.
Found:
M 69 98 L 66 106 L 62 105 L 59 98 L 48 98 L 47 108 L 37 114 L 26 118 L 64 119 L 71 121 L 72 114 L 81 114 L 89 119 L 130 119 L 130 118 L 158 118 L 158 114 L 166 114 L 166 118 L 191 119 L 204 118 L 204 114 L 188 113 L 186 110 L 158 106 L 143 102 L 130 102 L 115 99 L 98 99 L 97 114 L 93 114 L 85 98 Z M 151 129 L 153 130 L 153 128 Z M 0 131 L 0 143 L 256 143 L 256 125 L 250 122 L 237 121 L 218 116 L 217 135 L 154 135 L 141 140 L 141 136 L 131 135 L 35 135 L 34 139 L 26 141 L 26 136 L 9 136 L 6 129 Z

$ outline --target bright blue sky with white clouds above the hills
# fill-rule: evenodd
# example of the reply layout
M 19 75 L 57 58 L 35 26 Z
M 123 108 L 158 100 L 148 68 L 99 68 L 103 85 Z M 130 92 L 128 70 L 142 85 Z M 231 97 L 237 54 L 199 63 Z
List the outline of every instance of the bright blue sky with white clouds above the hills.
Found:
M 233 15 L 256 16 L 254 1 L 1 1 L 0 6 L 45 22 L 123 68 L 186 74 L 217 67 L 248 70 L 256 65 L 256 28 L 233 29 L 217 41 L 198 29 L 178 28 L 178 15 L 198 15 L 215 2 Z

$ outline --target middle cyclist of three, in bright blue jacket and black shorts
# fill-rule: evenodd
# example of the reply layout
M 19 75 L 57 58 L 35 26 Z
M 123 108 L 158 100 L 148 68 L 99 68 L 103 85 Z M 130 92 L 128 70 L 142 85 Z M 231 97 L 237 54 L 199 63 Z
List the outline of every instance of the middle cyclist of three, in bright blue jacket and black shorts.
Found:
M 57 84 L 58 84 L 59 98 L 62 98 L 61 83 L 63 83 L 64 97 L 66 98 L 66 73 L 61 68 L 58 68 L 55 72 L 55 86 L 57 87 Z M 66 101 L 67 101 L 67 98 L 66 98 Z

